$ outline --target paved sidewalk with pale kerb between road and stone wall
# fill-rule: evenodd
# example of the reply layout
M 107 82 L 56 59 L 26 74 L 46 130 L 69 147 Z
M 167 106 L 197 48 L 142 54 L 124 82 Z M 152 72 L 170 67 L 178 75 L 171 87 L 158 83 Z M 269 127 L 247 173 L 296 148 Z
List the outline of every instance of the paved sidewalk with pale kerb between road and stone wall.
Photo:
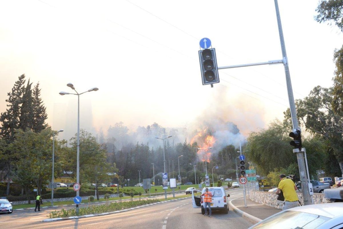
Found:
M 245 207 L 244 197 L 242 196 L 229 201 L 229 210 L 234 210 L 253 224 L 282 211 L 278 208 L 256 203 L 249 199 L 249 195 L 246 196 L 246 205 L 247 207 Z

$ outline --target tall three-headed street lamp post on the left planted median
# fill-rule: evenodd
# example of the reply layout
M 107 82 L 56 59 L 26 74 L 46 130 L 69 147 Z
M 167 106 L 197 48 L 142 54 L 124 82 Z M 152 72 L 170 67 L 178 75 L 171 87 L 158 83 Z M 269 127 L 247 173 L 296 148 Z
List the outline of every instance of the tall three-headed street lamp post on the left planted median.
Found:
M 70 87 L 71 89 L 73 89 L 75 93 L 69 93 L 69 92 L 60 92 L 60 95 L 77 95 L 78 96 L 78 143 L 77 143 L 77 153 L 76 153 L 76 183 L 80 184 L 80 95 L 82 95 L 83 93 L 86 92 L 93 92 L 93 91 L 98 91 L 99 88 L 97 87 L 93 87 L 91 89 L 89 89 L 88 91 L 82 92 L 82 93 L 78 93 L 75 90 L 75 87 L 72 83 L 68 83 L 67 84 L 68 87 Z M 76 191 L 76 196 L 79 196 L 80 194 L 80 190 Z M 76 204 L 76 214 L 79 214 L 79 205 Z

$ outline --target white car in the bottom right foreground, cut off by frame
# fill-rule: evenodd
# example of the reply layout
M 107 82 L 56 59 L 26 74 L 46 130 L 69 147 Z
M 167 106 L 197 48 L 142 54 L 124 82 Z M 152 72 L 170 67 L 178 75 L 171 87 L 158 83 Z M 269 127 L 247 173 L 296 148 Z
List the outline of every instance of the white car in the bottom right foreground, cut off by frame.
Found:
M 330 201 L 342 201 L 343 189 L 326 189 L 324 197 Z M 249 229 L 315 228 L 339 229 L 343 223 L 343 202 L 311 204 L 293 207 L 276 213 Z

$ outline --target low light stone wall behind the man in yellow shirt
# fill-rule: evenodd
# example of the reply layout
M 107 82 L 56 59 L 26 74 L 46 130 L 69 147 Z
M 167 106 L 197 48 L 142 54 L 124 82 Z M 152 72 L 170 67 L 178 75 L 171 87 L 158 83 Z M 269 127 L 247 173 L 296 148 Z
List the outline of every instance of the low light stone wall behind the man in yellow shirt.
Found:
M 303 193 L 297 193 L 299 201 L 301 204 L 304 204 L 303 201 Z M 249 192 L 249 198 L 250 200 L 257 202 L 259 204 L 267 205 L 270 207 L 280 208 L 282 209 L 283 201 L 277 200 L 277 195 L 275 192 L 261 192 L 252 190 Z M 324 197 L 324 194 L 322 193 L 314 193 L 312 196 L 314 204 L 321 204 L 321 203 L 327 203 L 327 199 Z

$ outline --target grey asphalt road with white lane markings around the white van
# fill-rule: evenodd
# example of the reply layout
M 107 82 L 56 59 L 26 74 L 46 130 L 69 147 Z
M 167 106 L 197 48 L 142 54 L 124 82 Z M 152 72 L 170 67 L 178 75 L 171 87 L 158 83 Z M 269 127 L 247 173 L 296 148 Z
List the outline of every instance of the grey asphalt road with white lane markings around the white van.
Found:
M 230 194 L 229 200 L 243 196 L 241 188 L 227 191 Z M 69 208 L 71 206 L 64 206 Z M 74 206 L 73 206 L 74 207 Z M 128 210 L 115 214 L 104 216 L 86 217 L 79 219 L 57 220 L 52 222 L 43 222 L 47 219 L 47 215 L 55 209 L 41 208 L 40 212 L 30 210 L 17 210 L 12 214 L 0 215 L 1 228 L 235 228 L 246 229 L 252 224 L 237 215 L 232 209 L 229 209 L 228 214 L 222 212 L 213 212 L 212 217 L 205 217 L 201 214 L 199 208 L 192 207 L 191 198 L 170 201 L 167 203 L 155 204 L 151 206 L 141 207 L 138 209 Z

